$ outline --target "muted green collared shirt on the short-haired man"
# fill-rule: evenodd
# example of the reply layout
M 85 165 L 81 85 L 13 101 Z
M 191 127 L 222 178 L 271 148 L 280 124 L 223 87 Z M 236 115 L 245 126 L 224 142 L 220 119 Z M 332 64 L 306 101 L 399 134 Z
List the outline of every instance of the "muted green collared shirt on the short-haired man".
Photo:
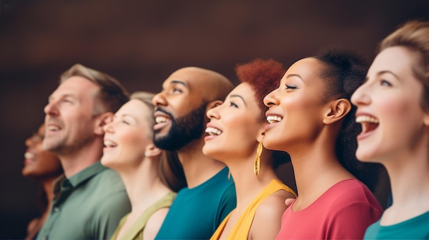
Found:
M 121 177 L 100 162 L 54 184 L 49 217 L 37 239 L 108 239 L 131 211 Z

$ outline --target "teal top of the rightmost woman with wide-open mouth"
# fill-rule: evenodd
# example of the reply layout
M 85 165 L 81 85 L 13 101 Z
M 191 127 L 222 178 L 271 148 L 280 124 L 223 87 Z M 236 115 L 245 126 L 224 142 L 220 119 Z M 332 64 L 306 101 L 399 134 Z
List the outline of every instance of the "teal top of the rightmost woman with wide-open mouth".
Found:
M 429 211 L 389 226 L 381 226 L 379 220 L 367 228 L 363 239 L 429 239 Z

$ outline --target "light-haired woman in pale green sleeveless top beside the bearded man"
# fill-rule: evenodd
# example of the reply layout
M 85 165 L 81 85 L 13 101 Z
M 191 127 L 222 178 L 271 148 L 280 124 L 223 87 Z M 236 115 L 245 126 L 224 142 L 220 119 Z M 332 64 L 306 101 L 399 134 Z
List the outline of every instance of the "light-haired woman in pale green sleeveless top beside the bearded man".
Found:
M 101 163 L 121 175 L 132 207 L 111 239 L 154 239 L 176 192 L 186 186 L 175 152 L 156 148 L 152 140 L 153 96 L 132 94 L 103 127 Z

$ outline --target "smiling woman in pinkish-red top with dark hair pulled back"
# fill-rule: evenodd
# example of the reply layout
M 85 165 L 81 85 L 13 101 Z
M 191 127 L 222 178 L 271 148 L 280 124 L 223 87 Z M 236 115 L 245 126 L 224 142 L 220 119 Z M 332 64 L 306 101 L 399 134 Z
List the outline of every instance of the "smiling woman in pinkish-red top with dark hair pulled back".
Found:
M 367 187 L 378 168 L 354 157 L 359 125 L 350 96 L 366 71 L 356 53 L 330 48 L 295 62 L 265 96 L 263 144 L 289 152 L 298 192 L 277 239 L 362 239 L 382 214 Z

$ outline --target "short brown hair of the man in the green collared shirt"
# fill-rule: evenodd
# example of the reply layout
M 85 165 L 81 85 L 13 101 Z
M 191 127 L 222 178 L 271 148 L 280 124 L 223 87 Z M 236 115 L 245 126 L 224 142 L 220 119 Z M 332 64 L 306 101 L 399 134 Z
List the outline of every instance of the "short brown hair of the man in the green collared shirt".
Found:
M 100 90 L 94 105 L 95 115 L 106 111 L 115 112 L 130 99 L 127 90 L 117 79 L 82 64 L 75 64 L 63 72 L 60 76 L 60 84 L 74 76 L 84 77 L 99 85 Z

